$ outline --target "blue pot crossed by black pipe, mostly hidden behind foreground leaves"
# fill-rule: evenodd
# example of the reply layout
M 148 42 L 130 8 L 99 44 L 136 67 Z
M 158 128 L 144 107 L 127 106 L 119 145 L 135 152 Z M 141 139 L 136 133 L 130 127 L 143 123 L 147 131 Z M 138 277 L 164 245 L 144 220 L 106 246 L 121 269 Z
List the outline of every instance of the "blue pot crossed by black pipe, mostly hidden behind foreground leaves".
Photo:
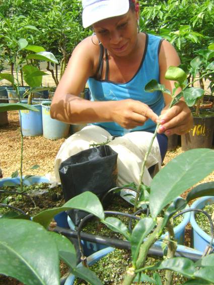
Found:
M 189 209 L 189 206 L 187 205 L 185 209 Z M 185 227 L 189 223 L 189 221 L 190 221 L 190 212 L 187 212 L 183 215 L 182 222 L 174 228 L 175 239 L 179 244 L 184 243 Z M 69 216 L 67 216 L 67 223 L 68 223 L 70 229 L 75 230 L 75 224 L 73 223 L 73 221 L 70 219 Z M 167 238 L 167 233 L 162 235 L 161 237 Z M 89 241 L 85 241 L 85 240 L 82 240 L 81 242 L 83 245 L 84 254 L 86 256 L 89 256 L 89 255 L 95 253 L 96 251 L 99 251 L 99 250 L 107 247 L 107 245 L 104 245 L 104 244 L 89 242 Z M 158 244 L 158 242 L 157 242 L 157 244 Z

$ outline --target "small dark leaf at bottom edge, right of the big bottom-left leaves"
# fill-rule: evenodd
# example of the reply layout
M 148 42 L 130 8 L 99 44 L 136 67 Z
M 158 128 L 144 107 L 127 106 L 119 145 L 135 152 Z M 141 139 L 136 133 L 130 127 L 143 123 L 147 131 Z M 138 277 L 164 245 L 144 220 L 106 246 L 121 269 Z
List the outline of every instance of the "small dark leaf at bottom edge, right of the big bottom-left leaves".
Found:
M 75 276 L 88 281 L 92 285 L 103 285 L 97 275 L 85 266 L 80 266 L 70 270 Z

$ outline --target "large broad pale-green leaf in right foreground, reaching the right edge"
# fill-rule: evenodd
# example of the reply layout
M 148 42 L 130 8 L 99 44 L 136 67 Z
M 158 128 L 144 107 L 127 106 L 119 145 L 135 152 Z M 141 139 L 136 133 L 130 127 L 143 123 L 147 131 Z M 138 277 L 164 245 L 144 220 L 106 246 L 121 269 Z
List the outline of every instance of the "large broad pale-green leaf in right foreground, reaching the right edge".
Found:
M 152 180 L 150 194 L 152 217 L 157 217 L 165 206 L 213 170 L 214 150 L 212 149 L 191 149 L 172 159 Z

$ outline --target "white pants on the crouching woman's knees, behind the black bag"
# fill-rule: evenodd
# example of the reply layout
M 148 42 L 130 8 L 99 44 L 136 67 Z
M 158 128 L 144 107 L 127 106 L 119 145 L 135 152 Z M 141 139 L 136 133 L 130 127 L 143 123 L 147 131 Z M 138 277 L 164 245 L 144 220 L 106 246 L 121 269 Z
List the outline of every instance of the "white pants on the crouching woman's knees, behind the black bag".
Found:
M 148 150 L 153 134 L 149 132 L 131 132 L 114 140 L 109 132 L 95 125 L 84 127 L 81 131 L 67 138 L 61 145 L 55 159 L 55 176 L 60 181 L 58 169 L 62 161 L 82 150 L 90 148 L 90 144 L 103 143 L 111 140 L 108 145 L 118 153 L 118 185 L 131 182 L 138 184 L 142 161 Z M 157 138 L 154 140 L 149 154 L 145 173 L 142 181 L 150 185 L 151 176 L 148 168 L 157 164 L 157 170 L 161 168 L 161 154 Z

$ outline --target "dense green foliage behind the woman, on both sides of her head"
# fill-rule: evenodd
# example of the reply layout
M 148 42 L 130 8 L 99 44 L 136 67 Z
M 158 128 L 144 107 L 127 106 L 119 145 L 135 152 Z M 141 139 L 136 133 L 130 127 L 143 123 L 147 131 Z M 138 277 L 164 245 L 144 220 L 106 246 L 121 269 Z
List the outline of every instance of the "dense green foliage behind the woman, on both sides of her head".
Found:
M 176 48 L 186 70 L 199 49 L 214 42 L 214 4 L 211 0 L 148 0 L 140 3 L 140 30 L 160 35 Z M 0 13 L 7 17 L 16 38 L 43 46 L 59 61 L 63 73 L 74 47 L 90 35 L 82 27 L 82 5 L 79 0 L 0 0 Z M 25 25 L 39 32 L 26 33 Z M 11 62 L 10 43 L 2 35 L 8 30 L 0 15 L 0 70 Z M 23 56 L 25 56 L 23 52 Z M 58 66 L 52 64 L 55 76 Z M 50 66 L 47 66 L 50 69 Z M 58 82 L 56 76 L 55 82 Z

